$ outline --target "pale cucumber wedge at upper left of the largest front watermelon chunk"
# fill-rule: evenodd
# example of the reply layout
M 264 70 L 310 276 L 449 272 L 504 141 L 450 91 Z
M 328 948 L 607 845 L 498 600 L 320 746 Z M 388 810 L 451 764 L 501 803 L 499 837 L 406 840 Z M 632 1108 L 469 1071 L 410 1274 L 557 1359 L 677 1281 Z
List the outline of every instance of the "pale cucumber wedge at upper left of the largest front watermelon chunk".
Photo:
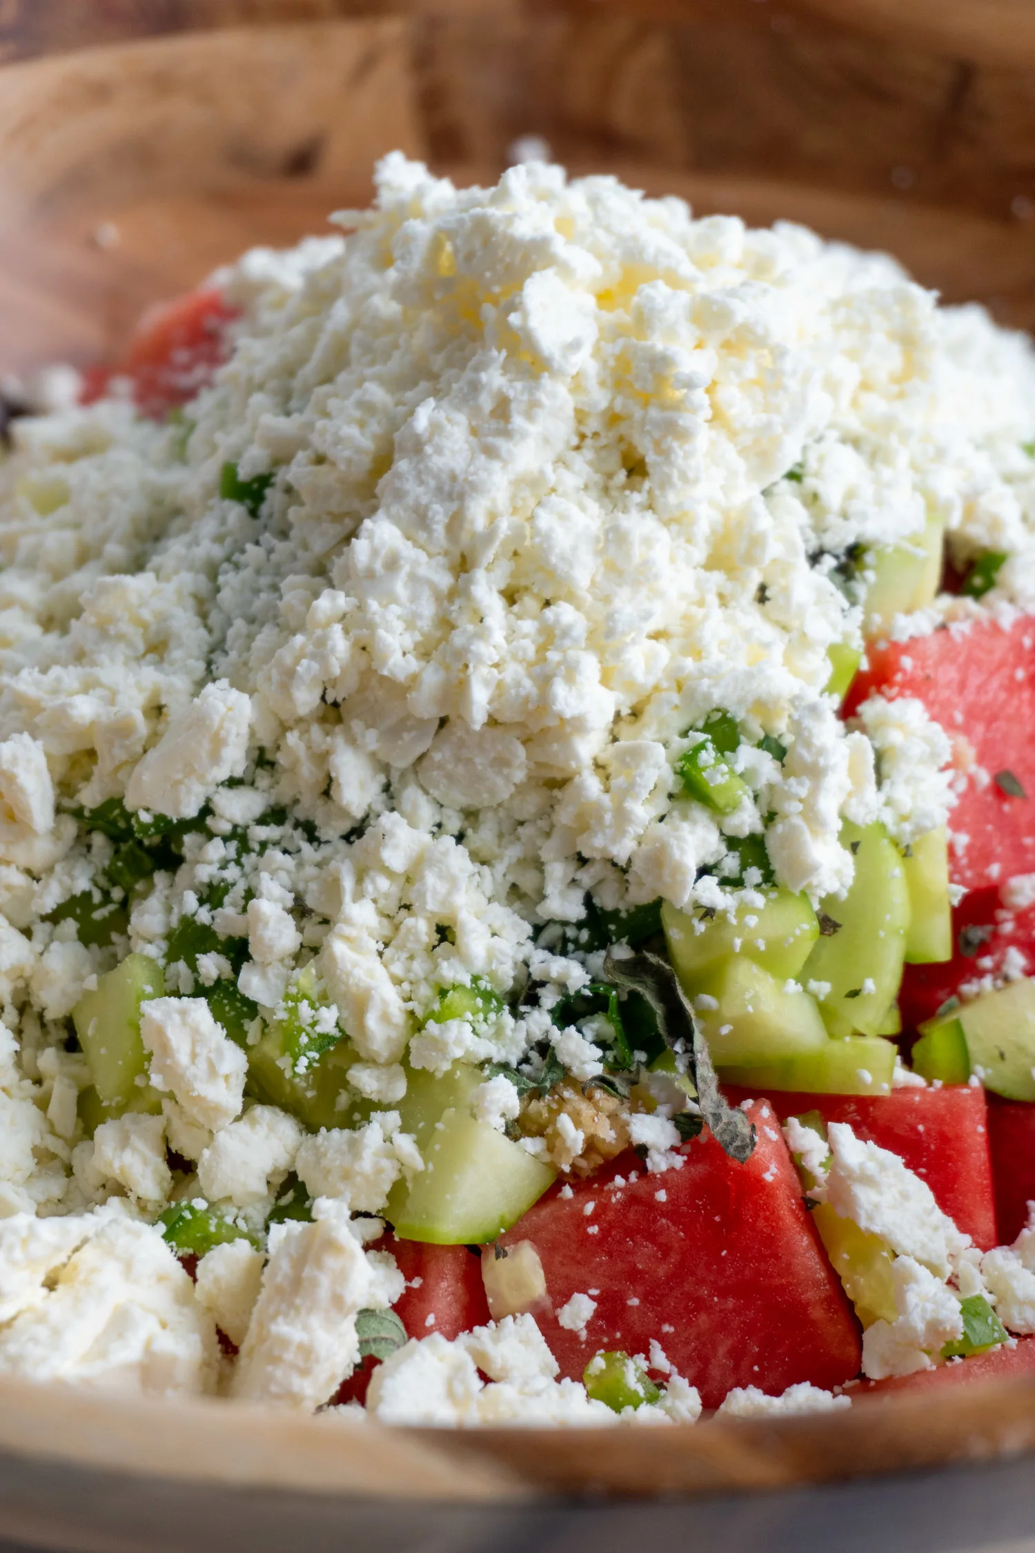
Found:
M 447 1110 L 396 1221 L 403 1241 L 484 1246 L 532 1207 L 556 1171 L 487 1121 Z

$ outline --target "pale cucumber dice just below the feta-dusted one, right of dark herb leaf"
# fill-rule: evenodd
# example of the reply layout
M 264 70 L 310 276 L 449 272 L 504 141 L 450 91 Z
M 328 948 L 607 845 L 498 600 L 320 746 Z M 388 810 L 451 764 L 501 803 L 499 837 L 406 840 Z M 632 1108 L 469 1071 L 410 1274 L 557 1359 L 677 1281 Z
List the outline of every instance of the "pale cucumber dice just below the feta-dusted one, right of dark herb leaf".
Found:
M 708 1006 L 712 1002 L 718 1006 Z M 777 1062 L 829 1045 L 815 999 L 784 991 L 745 955 L 700 980 L 694 1009 L 715 1064 Z

